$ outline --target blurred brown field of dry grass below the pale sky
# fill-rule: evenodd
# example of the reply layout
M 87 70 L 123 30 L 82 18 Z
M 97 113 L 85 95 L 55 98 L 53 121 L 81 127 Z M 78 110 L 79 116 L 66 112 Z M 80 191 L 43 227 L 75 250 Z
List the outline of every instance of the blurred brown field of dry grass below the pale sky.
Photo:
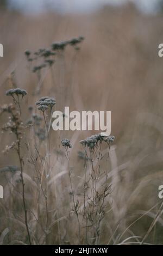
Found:
M 0 10 L 0 245 L 163 244 L 162 21 L 133 5 Z M 42 48 L 54 54 L 40 57 Z M 27 95 L 13 101 L 5 93 L 16 88 Z M 36 105 L 44 96 L 55 104 Z M 114 141 L 82 144 L 101 131 L 53 131 L 52 112 L 65 106 L 111 111 Z

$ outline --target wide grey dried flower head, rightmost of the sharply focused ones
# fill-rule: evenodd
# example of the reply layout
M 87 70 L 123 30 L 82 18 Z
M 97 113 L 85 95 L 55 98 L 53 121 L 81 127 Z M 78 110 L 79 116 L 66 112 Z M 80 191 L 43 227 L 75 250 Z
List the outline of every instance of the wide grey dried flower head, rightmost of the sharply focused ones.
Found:
M 82 141 L 80 141 L 80 143 L 85 147 L 88 147 L 90 149 L 95 149 L 98 143 L 101 143 L 102 141 L 104 141 L 110 144 L 111 142 L 114 141 L 114 139 L 115 139 L 114 136 L 107 136 L 107 135 L 104 135 L 103 133 L 99 133 L 97 135 L 92 135 L 86 139 L 83 139 Z

